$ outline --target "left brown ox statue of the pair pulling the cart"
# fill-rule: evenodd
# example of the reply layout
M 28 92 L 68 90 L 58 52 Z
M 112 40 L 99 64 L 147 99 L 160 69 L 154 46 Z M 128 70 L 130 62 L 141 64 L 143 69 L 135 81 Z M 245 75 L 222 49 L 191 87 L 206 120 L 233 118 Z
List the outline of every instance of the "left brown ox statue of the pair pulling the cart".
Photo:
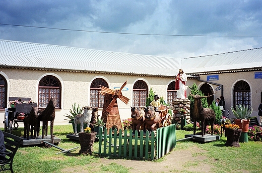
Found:
M 131 107 L 131 106 L 130 106 Z M 144 113 L 142 113 L 141 109 L 138 106 L 131 107 L 131 119 L 132 119 L 132 130 L 133 133 L 135 133 L 135 130 L 140 130 L 140 128 L 143 129 L 144 132 L 146 132 L 145 128 L 145 116 Z

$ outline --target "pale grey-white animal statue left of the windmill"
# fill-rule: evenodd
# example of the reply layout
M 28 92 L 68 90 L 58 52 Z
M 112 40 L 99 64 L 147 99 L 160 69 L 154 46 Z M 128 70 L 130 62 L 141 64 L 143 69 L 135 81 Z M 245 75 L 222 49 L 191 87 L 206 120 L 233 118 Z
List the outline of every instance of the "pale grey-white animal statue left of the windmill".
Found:
M 87 127 L 90 124 L 90 111 L 89 106 L 85 106 L 82 109 L 84 110 L 83 114 L 78 114 L 75 116 L 74 123 L 75 123 L 75 134 L 77 134 L 77 124 L 80 124 L 80 132 L 84 132 L 84 123 L 87 123 Z

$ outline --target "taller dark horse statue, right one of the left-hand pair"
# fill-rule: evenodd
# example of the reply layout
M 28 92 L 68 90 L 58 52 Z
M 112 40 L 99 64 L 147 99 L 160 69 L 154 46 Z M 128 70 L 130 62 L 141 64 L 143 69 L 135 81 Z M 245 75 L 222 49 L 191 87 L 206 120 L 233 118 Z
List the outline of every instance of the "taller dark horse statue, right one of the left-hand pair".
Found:
M 55 118 L 55 105 L 56 105 L 56 98 L 52 98 L 49 100 L 45 109 L 38 110 L 38 133 L 39 133 L 39 126 L 40 121 L 43 122 L 42 127 L 42 139 L 44 136 L 47 136 L 48 130 L 48 121 L 50 121 L 50 135 L 51 135 L 51 143 L 54 144 L 54 136 L 53 136 L 53 126 L 54 126 L 54 118 Z

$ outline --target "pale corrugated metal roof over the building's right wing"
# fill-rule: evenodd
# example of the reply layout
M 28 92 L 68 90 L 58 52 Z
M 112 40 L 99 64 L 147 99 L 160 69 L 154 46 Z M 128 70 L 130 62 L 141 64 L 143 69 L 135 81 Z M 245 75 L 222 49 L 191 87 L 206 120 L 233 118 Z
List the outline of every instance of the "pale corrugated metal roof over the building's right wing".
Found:
M 237 71 L 262 68 L 262 48 L 183 59 L 183 70 L 189 74 Z

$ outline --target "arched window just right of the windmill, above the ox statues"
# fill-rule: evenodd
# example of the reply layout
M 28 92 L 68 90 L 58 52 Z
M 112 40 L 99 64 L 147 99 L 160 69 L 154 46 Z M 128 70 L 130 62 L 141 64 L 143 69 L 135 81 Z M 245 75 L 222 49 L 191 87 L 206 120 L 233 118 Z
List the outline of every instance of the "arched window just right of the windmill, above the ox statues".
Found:
M 146 106 L 147 96 L 147 84 L 142 80 L 137 81 L 133 87 L 133 106 Z

